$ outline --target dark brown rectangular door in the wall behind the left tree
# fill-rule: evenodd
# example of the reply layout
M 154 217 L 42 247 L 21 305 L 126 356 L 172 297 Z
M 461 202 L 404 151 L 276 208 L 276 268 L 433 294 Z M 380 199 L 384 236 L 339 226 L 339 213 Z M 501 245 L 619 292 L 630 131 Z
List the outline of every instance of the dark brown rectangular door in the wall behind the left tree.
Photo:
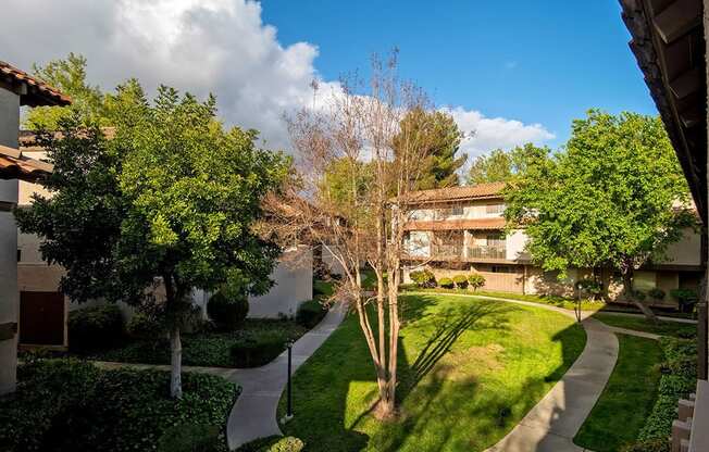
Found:
M 20 292 L 20 343 L 64 344 L 64 296 Z

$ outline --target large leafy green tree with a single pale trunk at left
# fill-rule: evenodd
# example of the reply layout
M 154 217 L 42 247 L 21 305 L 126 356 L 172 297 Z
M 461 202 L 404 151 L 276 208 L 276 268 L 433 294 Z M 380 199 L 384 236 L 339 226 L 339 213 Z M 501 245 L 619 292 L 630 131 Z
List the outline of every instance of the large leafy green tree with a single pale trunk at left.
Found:
M 133 80 L 111 97 L 115 137 L 73 115 L 61 136 L 41 135 L 54 173 L 16 212 L 24 233 L 42 238 L 49 263 L 66 268 L 61 290 L 151 305 L 170 328 L 171 394 L 182 397 L 181 328 L 192 314 L 192 288 L 213 290 L 238 279 L 263 293 L 279 253 L 254 234 L 263 194 L 277 187 L 288 162 L 258 149 L 257 133 L 224 129 L 214 99 L 161 87 L 153 103 Z M 164 297 L 157 297 L 158 288 Z M 158 299 L 157 299 L 158 298 Z

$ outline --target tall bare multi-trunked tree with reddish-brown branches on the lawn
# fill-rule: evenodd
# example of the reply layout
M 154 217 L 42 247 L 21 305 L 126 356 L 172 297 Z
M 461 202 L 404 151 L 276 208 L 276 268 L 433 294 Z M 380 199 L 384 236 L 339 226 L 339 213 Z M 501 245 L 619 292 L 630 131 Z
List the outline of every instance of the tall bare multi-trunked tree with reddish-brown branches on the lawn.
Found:
M 275 223 L 282 234 L 307 234 L 341 266 L 333 300 L 349 302 L 358 316 L 378 386 L 375 414 L 390 417 L 398 382 L 403 225 L 411 213 L 406 200 L 430 175 L 421 162 L 438 149 L 431 142 L 436 135 L 422 130 L 436 129 L 439 116 L 419 89 L 399 81 L 394 58 L 386 64 L 375 58 L 372 74 L 369 89 L 356 91 L 352 87 L 363 84 L 344 80 L 344 91 L 327 100 L 329 109 L 289 118 L 301 185 Z M 399 127 L 412 114 L 421 115 L 418 127 Z M 333 174 L 335 187 L 328 184 Z M 364 263 L 376 274 L 373 294 L 361 287 Z

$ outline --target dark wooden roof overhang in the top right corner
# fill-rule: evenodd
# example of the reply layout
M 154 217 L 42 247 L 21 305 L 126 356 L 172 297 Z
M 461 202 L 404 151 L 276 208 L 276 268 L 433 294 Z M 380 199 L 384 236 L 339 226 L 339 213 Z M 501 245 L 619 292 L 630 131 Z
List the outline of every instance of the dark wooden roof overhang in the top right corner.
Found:
M 620 0 L 630 47 L 645 75 L 707 222 L 707 71 L 702 0 Z

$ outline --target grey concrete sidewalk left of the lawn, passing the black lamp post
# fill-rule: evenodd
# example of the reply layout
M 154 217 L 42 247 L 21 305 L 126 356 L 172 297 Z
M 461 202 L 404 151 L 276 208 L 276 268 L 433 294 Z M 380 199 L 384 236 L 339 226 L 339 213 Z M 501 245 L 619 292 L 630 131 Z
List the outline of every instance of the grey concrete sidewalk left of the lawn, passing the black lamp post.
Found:
M 325 318 L 293 346 L 293 371 L 312 355 L 337 328 L 347 314 L 341 303 L 333 306 Z M 229 449 L 258 438 L 283 435 L 276 420 L 281 394 L 288 381 L 288 352 L 256 368 L 235 369 L 228 379 L 241 385 L 241 394 L 232 407 L 226 425 Z

